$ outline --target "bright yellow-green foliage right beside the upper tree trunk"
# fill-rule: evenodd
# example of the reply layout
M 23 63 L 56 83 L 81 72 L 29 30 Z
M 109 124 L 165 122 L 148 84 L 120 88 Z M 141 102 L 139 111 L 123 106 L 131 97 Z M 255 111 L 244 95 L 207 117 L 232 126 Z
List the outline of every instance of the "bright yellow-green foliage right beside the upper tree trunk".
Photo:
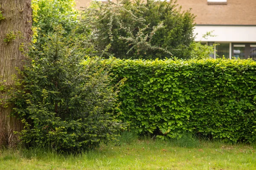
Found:
M 79 11 L 75 9 L 74 0 L 32 0 L 33 28 L 36 48 L 41 48 L 48 34 L 61 24 L 64 35 L 77 26 Z M 35 41 L 35 42 L 36 42 Z

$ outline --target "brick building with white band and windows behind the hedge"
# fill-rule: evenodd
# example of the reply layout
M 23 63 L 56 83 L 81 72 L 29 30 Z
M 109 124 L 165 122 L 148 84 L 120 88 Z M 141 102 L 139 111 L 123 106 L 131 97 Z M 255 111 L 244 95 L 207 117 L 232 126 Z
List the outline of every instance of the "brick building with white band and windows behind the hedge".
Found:
M 91 0 L 76 1 L 79 7 Z M 197 16 L 195 41 L 218 44 L 211 57 L 256 59 L 256 0 L 177 0 L 177 4 Z M 209 31 L 215 36 L 203 38 Z

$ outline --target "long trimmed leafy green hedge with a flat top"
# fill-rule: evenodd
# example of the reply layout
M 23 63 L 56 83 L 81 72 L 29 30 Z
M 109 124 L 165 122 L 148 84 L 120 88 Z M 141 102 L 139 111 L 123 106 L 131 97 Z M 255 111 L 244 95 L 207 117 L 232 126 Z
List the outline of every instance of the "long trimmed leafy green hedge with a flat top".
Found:
M 116 60 L 119 118 L 138 133 L 184 131 L 225 141 L 256 140 L 256 62 L 240 59 Z

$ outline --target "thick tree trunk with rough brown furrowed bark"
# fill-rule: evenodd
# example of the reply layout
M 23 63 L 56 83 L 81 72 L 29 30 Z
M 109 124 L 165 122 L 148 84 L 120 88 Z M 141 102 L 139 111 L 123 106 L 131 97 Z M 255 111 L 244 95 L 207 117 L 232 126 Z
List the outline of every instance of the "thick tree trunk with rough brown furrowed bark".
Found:
M 0 0 L 0 11 L 5 19 L 0 20 L 0 81 L 6 80 L 5 85 L 12 87 L 12 75 L 17 74 L 15 67 L 23 68 L 25 56 L 19 50 L 21 43 L 26 45 L 32 35 L 32 8 L 31 0 Z M 13 33 L 14 40 L 4 42 L 6 35 Z M 26 49 L 25 49 L 26 50 Z M 0 91 L 0 99 L 7 99 Z M 14 131 L 23 128 L 20 120 L 10 116 L 12 105 L 4 108 L 0 105 L 0 147 L 12 147 L 17 144 L 17 135 Z

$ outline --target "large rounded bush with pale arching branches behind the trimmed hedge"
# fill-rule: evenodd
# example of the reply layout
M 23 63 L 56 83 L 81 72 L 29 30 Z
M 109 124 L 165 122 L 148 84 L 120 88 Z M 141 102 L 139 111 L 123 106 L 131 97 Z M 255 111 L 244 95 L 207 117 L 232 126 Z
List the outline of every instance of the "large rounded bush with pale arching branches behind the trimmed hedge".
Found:
M 176 1 L 93 2 L 84 16 L 96 51 L 111 44 L 109 53 L 119 58 L 189 57 L 194 15 L 182 11 Z

